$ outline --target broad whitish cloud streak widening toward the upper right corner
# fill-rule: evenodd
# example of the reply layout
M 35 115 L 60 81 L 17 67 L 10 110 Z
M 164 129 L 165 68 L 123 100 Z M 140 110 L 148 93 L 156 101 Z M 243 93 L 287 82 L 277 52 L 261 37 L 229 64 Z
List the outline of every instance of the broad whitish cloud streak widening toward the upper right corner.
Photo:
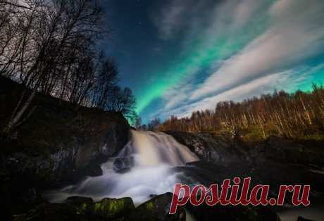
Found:
M 324 2 L 276 1 L 272 24 L 237 55 L 223 63 L 194 91 L 191 99 L 216 94 L 317 56 L 324 46 Z

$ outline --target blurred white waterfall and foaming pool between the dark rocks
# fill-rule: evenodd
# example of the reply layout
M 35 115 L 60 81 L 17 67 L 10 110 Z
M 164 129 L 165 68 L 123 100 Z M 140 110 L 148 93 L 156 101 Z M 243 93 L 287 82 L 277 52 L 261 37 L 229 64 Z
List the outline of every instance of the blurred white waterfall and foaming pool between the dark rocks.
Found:
M 118 160 L 121 168 L 116 168 Z M 118 156 L 101 165 L 102 176 L 88 177 L 80 184 L 51 191 L 47 196 L 53 202 L 76 195 L 92 197 L 95 201 L 129 196 L 135 203 L 142 203 L 152 194 L 173 191 L 177 177 L 170 168 L 196 160 L 197 156 L 187 146 L 168 134 L 132 130 L 131 141 Z

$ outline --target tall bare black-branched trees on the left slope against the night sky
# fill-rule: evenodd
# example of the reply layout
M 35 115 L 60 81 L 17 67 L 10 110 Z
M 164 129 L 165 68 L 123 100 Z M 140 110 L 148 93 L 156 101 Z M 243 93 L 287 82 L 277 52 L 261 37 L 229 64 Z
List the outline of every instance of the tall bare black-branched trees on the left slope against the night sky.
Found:
M 132 91 L 96 44 L 105 27 L 96 0 L 0 0 L 0 75 L 24 88 L 4 132 L 32 114 L 37 92 L 135 119 Z

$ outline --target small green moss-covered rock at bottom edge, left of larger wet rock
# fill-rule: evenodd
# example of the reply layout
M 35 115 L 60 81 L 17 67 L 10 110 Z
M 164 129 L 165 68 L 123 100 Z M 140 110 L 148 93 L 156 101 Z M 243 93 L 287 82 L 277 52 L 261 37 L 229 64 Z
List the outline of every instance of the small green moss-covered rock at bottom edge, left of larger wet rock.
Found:
M 135 209 L 132 198 L 103 198 L 94 203 L 94 214 L 105 219 L 123 217 Z

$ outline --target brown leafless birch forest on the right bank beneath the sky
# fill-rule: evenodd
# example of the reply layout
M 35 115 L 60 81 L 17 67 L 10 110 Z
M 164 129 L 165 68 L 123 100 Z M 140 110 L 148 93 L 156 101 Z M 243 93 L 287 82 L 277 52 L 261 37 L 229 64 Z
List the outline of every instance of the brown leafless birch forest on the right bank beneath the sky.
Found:
M 254 139 L 323 135 L 324 87 L 313 84 L 310 92 L 274 91 L 242 102 L 219 102 L 213 110 L 196 111 L 188 118 L 171 116 L 159 130 L 229 132 Z

